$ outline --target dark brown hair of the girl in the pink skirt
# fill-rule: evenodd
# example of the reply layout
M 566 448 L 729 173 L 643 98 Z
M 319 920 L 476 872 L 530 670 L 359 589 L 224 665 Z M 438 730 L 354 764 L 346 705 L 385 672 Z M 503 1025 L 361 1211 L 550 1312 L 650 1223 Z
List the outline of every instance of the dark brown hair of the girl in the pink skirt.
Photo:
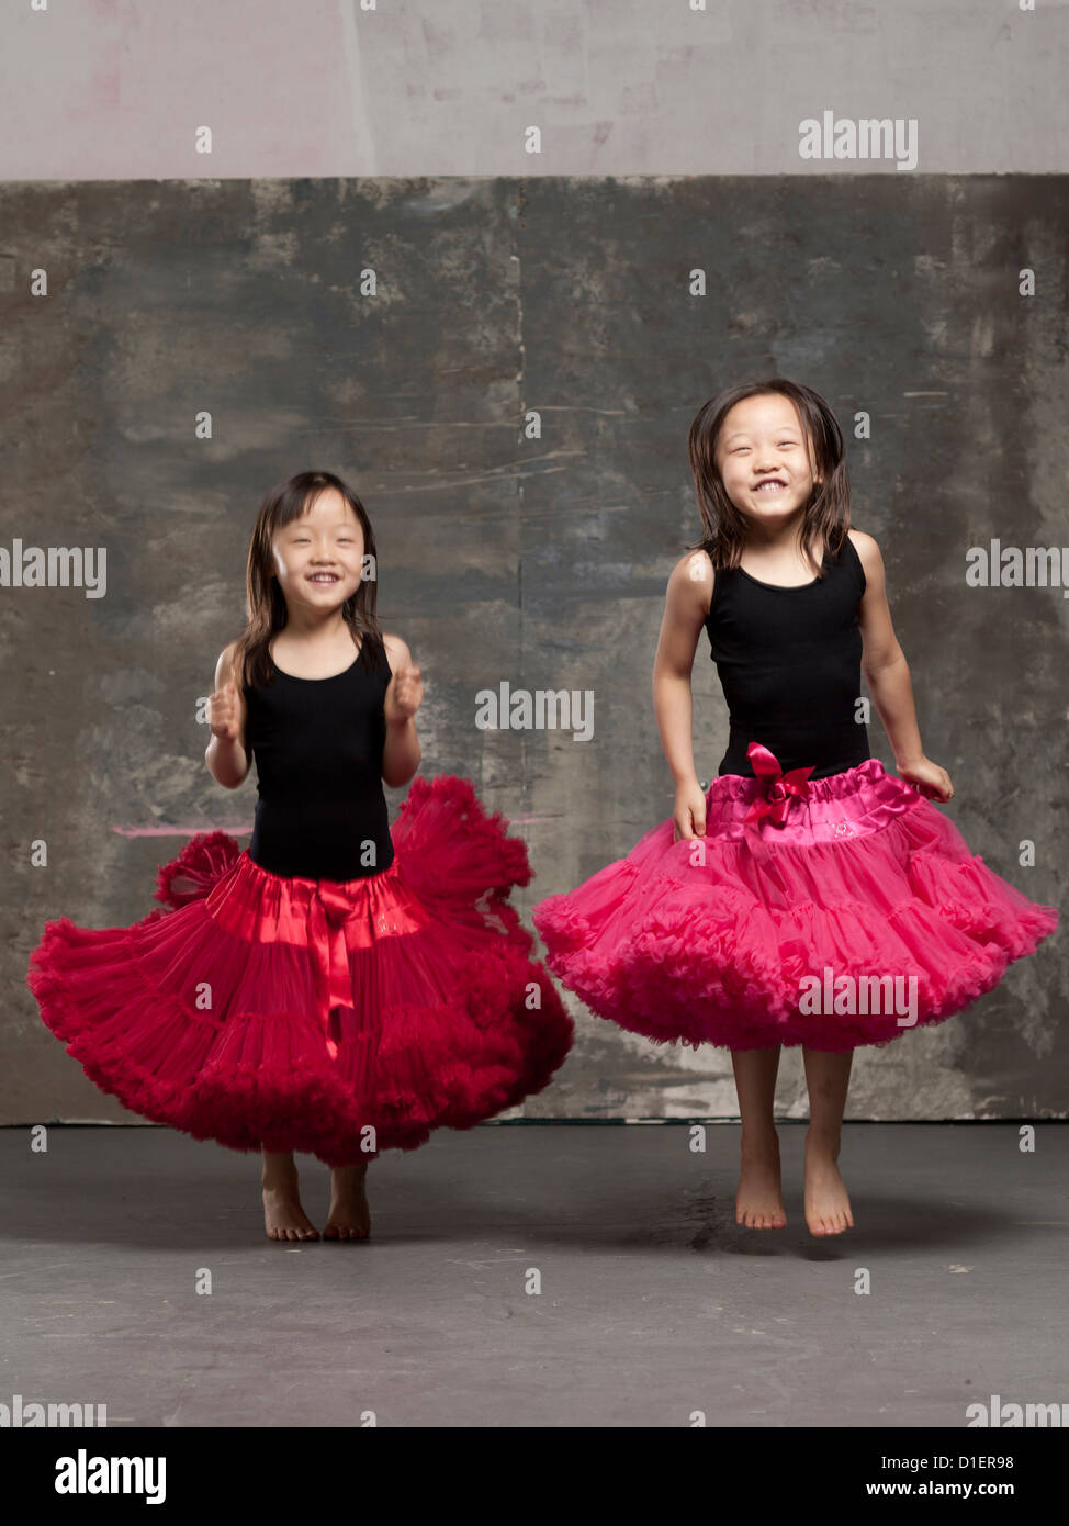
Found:
M 816 459 L 813 493 L 802 522 L 802 552 L 823 577 L 823 555 L 837 557 L 849 530 L 849 479 L 843 455 L 843 436 L 836 415 L 823 398 L 799 382 L 773 377 L 770 382 L 746 382 L 727 388 L 703 403 L 688 433 L 694 491 L 705 528 L 703 539 L 688 551 L 708 551 L 714 568 L 738 566 L 746 545 L 746 516 L 735 508 L 717 467 L 717 441 L 724 418 L 735 403 L 746 397 L 779 392 L 798 409 L 807 449 Z

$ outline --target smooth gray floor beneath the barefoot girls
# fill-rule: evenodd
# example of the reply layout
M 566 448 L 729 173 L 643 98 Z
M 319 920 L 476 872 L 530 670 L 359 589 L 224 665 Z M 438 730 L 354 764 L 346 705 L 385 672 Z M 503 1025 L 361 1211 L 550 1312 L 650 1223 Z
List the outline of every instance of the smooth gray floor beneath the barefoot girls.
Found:
M 384 1155 L 372 1241 L 297 1247 L 264 1239 L 252 1155 L 0 1131 L 0 1401 L 113 1427 L 962 1427 L 996 1393 L 1069 1396 L 1069 1131 L 1022 1154 L 1016 1125 L 848 1125 L 836 1242 L 801 1216 L 804 1125 L 779 1132 L 779 1233 L 735 1225 L 734 1125 L 703 1155 L 682 1125 L 511 1125 Z M 322 1227 L 326 1169 L 297 1161 Z

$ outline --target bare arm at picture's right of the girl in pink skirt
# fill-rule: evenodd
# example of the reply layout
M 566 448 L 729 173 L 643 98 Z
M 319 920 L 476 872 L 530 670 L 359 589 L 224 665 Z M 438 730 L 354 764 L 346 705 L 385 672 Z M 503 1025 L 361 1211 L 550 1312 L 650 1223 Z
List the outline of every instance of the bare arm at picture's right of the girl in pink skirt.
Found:
M 862 673 L 888 732 L 898 774 L 907 783 L 918 786 L 921 794 L 950 800 L 953 795 L 950 775 L 924 757 L 921 746 L 913 685 L 906 655 L 891 623 L 880 548 L 872 536 L 860 530 L 851 530 L 849 539 L 865 568 L 865 594 L 857 612 L 863 641 Z

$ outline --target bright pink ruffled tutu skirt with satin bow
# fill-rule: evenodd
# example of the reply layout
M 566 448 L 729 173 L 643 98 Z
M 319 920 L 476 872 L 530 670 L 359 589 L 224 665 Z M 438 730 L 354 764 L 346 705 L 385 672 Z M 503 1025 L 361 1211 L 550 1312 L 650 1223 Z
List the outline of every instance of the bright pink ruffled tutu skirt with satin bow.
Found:
M 795 790 L 758 751 L 775 783 L 714 780 L 703 838 L 673 842 L 662 821 L 534 908 L 549 969 L 598 1016 L 730 1050 L 883 1045 L 961 1012 L 1054 932 L 1054 906 L 877 758 Z

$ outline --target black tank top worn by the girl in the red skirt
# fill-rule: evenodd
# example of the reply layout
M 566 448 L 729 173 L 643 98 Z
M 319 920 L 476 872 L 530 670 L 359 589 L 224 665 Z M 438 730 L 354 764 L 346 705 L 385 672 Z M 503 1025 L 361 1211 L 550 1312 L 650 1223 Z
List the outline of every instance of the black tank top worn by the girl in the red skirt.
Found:
M 381 775 L 390 668 L 380 650 L 374 671 L 361 647 L 345 673 L 311 679 L 284 673 L 268 653 L 271 681 L 246 688 L 259 795 L 249 856 L 261 868 L 366 879 L 393 862 Z

